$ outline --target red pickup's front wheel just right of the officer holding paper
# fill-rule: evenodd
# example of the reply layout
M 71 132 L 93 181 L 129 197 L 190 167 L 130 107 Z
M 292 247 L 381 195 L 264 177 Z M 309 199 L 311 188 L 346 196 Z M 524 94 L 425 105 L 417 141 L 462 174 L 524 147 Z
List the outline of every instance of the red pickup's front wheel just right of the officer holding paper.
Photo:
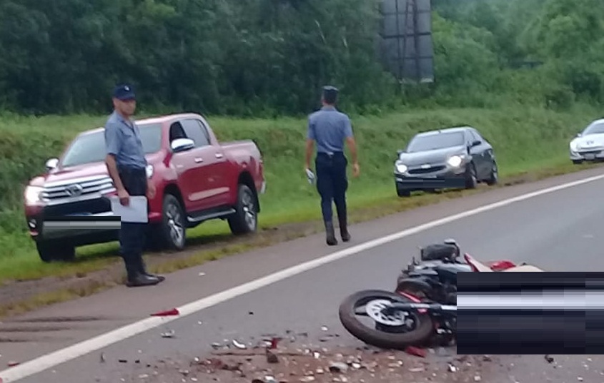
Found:
M 182 250 L 186 242 L 186 224 L 182 205 L 172 194 L 164 196 L 162 208 L 164 214 L 159 225 L 159 237 L 162 247 L 169 250 Z

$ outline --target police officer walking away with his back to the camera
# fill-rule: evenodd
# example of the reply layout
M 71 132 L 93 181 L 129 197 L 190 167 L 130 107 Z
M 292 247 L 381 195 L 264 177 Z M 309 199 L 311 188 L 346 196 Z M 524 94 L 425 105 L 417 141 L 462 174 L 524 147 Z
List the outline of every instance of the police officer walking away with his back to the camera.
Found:
M 346 190 L 348 180 L 346 167 L 348 160 L 344 155 L 344 141 L 348 143 L 352 154 L 353 175 L 359 175 L 357 162 L 357 144 L 352 134 L 350 118 L 345 113 L 337 111 L 337 88 L 324 86 L 321 98 L 322 108 L 308 117 L 308 133 L 306 141 L 305 170 L 310 169 L 310 158 L 313 145 L 317 143 L 315 172 L 317 173 L 317 190 L 321 195 L 321 212 L 325 222 L 327 245 L 337 245 L 334 226 L 332 223 L 332 201 L 335 203 L 337 218 L 340 223 L 340 235 L 344 242 L 350 240 L 347 229 Z

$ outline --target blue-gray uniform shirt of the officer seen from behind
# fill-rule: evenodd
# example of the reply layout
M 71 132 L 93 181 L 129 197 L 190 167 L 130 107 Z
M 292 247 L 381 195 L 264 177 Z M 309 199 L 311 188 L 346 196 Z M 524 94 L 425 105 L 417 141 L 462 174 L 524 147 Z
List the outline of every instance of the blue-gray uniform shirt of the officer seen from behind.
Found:
M 350 118 L 333 106 L 324 106 L 308 116 L 307 138 L 317 143 L 317 153 L 344 151 L 344 141 L 352 137 Z

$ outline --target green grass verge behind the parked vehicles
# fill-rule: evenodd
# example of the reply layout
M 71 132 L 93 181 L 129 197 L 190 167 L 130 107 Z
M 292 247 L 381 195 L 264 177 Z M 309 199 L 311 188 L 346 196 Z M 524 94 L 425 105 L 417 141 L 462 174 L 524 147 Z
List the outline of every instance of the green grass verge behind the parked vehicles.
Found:
M 387 116 L 352 116 L 360 147 L 361 177 L 350 179 L 351 210 L 400 203 L 392 180 L 396 150 L 418 131 L 469 124 L 495 147 L 502 177 L 544 168 L 573 169 L 568 141 L 597 111 L 577 105 L 570 111 L 510 106 L 497 110 L 465 108 L 408 111 Z M 44 264 L 24 231 L 21 188 L 39 173 L 44 161 L 58 155 L 79 131 L 102 126 L 104 116 L 46 116 L 0 118 L 0 282 L 36 279 L 48 275 L 81 274 L 120 260 L 116 243 L 81 247 L 73 264 Z M 209 118 L 221 141 L 253 138 L 264 154 L 267 194 L 261 197 L 261 228 L 320 218 L 317 192 L 302 173 L 305 120 L 239 120 Z M 434 195 L 414 196 L 421 203 Z M 194 242 L 228 233 L 222 221 L 189 231 Z

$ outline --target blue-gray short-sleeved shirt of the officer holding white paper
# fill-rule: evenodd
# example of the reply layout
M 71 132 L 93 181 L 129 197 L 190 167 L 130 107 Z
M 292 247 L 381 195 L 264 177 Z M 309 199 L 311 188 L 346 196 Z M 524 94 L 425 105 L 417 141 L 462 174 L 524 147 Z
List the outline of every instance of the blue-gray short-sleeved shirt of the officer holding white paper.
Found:
M 147 166 L 139 133 L 139 127 L 114 111 L 105 123 L 105 149 L 107 154 L 115 155 L 116 163 L 124 168 Z

